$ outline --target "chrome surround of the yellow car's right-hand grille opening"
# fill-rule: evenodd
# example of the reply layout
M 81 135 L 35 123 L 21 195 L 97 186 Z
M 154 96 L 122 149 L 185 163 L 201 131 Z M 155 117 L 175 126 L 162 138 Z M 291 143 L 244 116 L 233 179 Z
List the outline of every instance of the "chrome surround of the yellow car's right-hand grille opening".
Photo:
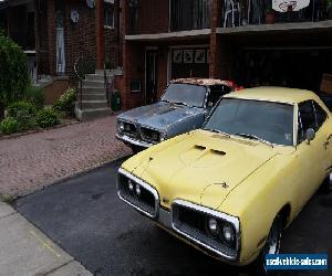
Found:
M 232 224 L 232 226 L 236 230 L 236 237 L 237 237 L 237 244 L 236 244 L 236 256 L 230 256 L 227 255 L 200 241 L 198 241 L 195 236 L 191 236 L 185 232 L 183 232 L 181 230 L 177 229 L 175 223 L 174 223 L 174 205 L 181 205 L 181 206 L 186 206 L 189 209 L 194 209 L 198 212 L 203 212 L 209 215 L 212 215 L 215 217 L 221 219 L 224 221 L 227 221 L 228 223 Z M 237 261 L 237 258 L 239 257 L 239 253 L 240 253 L 240 242 L 241 242 L 241 232 L 240 232 L 240 220 L 237 216 L 232 216 L 226 213 L 221 213 L 218 212 L 216 210 L 211 210 L 209 208 L 203 206 L 203 205 L 198 205 L 188 201 L 184 201 L 184 200 L 174 200 L 174 202 L 172 203 L 172 208 L 170 208 L 170 216 L 172 216 L 172 227 L 179 234 L 184 235 L 185 237 L 187 237 L 190 241 L 194 241 L 195 243 L 201 245 L 203 247 L 216 253 L 218 256 L 226 258 L 228 261 Z

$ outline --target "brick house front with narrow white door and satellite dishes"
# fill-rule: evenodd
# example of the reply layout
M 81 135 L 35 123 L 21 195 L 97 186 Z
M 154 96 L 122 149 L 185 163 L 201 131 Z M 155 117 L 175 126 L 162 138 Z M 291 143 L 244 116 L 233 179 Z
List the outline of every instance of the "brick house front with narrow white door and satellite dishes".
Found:
M 105 61 L 122 66 L 120 2 L 0 1 L 0 28 L 27 53 L 34 83 L 48 84 L 46 102 L 76 84 L 74 64 L 80 56 L 93 71 L 102 70 Z

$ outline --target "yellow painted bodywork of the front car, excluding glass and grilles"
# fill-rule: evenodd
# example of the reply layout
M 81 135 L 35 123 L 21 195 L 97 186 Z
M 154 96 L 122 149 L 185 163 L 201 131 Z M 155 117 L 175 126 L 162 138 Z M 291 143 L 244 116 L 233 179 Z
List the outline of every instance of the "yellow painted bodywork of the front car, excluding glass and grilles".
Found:
M 255 140 L 195 130 L 132 157 L 122 168 L 154 187 L 160 199 L 168 199 L 167 203 L 160 202 L 166 209 L 175 199 L 183 199 L 239 217 L 238 265 L 246 265 L 258 256 L 264 245 L 261 240 L 280 210 L 290 205 L 289 224 L 326 177 L 326 168 L 332 166 L 332 139 L 328 147 L 323 144 L 332 132 L 332 119 L 322 102 L 308 91 L 264 87 L 226 97 L 294 105 L 294 136 L 299 103 L 314 99 L 329 117 L 310 145 L 303 141 L 272 148 Z

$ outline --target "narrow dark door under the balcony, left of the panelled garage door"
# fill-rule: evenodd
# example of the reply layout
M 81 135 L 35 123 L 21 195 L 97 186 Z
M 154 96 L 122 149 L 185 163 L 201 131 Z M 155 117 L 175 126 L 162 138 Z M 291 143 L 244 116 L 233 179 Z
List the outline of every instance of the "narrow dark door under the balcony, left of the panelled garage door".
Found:
M 146 88 L 145 102 L 152 104 L 157 102 L 157 51 L 146 51 Z

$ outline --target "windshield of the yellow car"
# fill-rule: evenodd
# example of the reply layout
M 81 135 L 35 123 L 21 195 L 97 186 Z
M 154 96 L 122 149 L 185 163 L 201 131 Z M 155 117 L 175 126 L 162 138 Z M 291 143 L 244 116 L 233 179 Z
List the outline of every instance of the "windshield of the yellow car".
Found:
M 224 98 L 204 128 L 292 146 L 293 106 L 262 100 Z

